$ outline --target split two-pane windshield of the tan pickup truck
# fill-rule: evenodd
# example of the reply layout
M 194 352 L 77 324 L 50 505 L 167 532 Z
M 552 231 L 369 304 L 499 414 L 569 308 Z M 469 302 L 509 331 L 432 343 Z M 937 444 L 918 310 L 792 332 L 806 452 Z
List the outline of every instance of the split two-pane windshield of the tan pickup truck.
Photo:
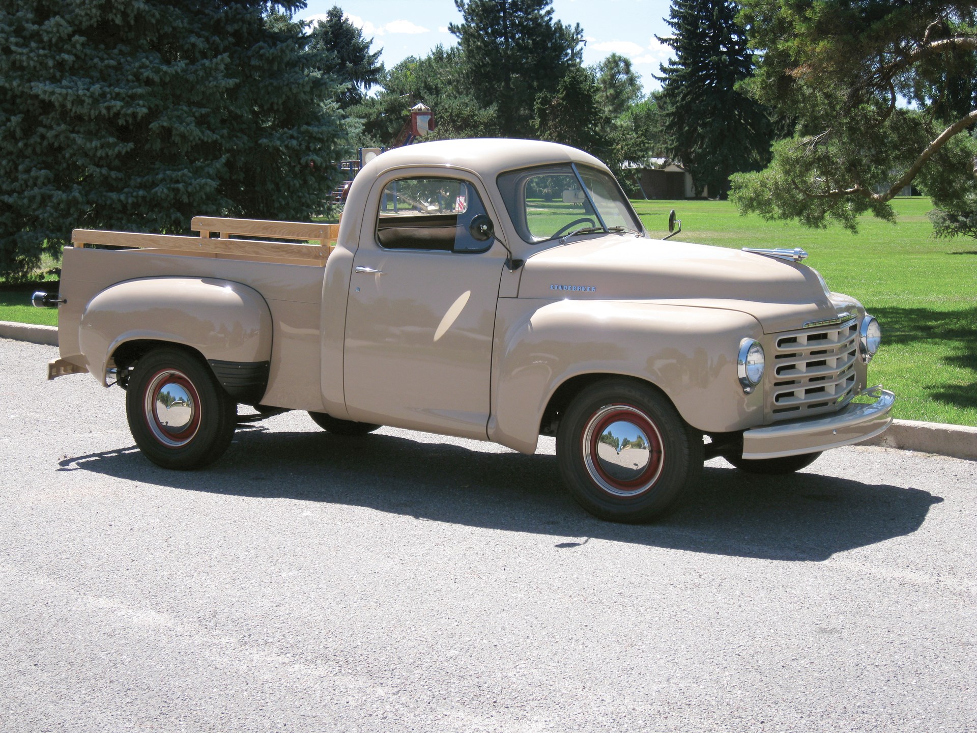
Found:
M 586 165 L 575 167 L 574 171 L 570 163 L 546 165 L 498 177 L 499 192 L 520 237 L 532 244 L 586 230 L 643 231 L 614 176 Z

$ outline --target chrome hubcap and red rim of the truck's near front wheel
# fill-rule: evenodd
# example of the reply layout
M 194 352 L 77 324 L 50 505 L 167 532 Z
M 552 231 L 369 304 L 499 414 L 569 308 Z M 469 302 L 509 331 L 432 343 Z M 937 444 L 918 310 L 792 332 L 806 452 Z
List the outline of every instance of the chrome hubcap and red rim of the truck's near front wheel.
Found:
M 661 474 L 661 435 L 651 418 L 629 405 L 594 412 L 582 436 L 587 473 L 614 496 L 647 492 Z

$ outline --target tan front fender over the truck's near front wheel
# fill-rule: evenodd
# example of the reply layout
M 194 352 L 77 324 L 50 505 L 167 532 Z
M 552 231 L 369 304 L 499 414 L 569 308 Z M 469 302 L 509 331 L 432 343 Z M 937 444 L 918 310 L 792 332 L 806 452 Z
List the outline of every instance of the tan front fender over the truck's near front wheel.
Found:
M 716 308 L 635 301 L 499 301 L 489 438 L 535 451 L 550 398 L 583 374 L 632 376 L 656 385 L 703 432 L 759 424 L 763 393 L 743 393 L 737 354 L 760 338 L 752 316 Z

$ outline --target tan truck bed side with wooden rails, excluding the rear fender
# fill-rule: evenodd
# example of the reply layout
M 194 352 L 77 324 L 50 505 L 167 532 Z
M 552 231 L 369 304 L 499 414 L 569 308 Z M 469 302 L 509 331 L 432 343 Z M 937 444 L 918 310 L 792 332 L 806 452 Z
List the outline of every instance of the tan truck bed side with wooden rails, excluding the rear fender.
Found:
M 74 246 L 64 248 L 62 265 L 61 296 L 66 300 L 59 317 L 62 358 L 84 364 L 78 345 L 81 316 L 88 302 L 109 285 L 140 278 L 233 280 L 260 292 L 272 314 L 273 367 L 263 404 L 322 410 L 319 370 L 309 365 L 320 362 L 323 266 L 338 225 L 194 217 L 193 228 L 200 237 L 75 230 Z M 211 232 L 219 237 L 211 237 Z M 232 235 L 319 238 L 319 243 Z

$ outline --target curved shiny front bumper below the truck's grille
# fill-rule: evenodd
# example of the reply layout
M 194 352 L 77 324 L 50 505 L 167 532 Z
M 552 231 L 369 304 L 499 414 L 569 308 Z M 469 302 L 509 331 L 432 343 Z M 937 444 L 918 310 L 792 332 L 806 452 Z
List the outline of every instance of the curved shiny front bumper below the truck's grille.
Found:
M 834 414 L 805 417 L 743 433 L 743 458 L 780 458 L 850 446 L 874 438 L 892 423 L 896 396 L 881 386 L 862 394 L 876 397 L 871 405 L 849 403 Z

